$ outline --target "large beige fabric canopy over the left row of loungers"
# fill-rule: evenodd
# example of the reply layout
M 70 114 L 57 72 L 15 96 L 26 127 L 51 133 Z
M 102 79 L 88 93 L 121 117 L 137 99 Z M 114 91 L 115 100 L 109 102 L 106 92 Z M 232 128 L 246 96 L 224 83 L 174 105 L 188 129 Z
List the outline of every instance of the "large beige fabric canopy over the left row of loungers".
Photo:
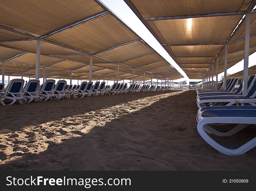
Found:
M 133 78 L 133 71 L 139 78 L 144 72 L 182 77 L 97 0 L 3 0 L 1 15 L 0 61 L 6 63 L 6 71 L 27 75 L 19 68 L 25 66 L 7 67 L 7 63 L 23 64 L 31 69 L 28 75 L 34 75 L 39 39 L 40 76 L 45 71 L 47 77 L 68 78 L 72 72 L 72 78 L 88 79 L 92 56 L 92 78 L 113 79 L 117 63 L 120 78 Z

